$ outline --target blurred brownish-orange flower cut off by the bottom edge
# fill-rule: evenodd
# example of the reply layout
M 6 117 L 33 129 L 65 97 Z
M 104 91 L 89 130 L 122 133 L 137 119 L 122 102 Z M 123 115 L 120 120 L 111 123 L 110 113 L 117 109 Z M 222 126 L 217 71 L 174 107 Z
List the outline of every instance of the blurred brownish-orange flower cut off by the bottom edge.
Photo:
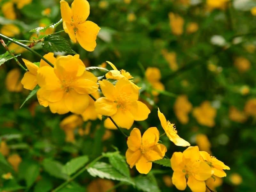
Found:
M 113 188 L 115 186 L 115 183 L 111 180 L 107 179 L 94 179 L 92 182 L 89 183 L 87 186 L 88 192 L 107 192 L 109 189 Z M 115 192 L 116 190 L 113 189 L 111 192 Z

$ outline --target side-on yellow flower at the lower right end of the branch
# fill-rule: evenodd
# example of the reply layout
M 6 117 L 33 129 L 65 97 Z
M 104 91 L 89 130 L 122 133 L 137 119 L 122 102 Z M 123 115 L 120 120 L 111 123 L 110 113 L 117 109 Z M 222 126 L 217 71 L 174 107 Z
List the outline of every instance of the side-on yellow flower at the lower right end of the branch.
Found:
M 210 156 L 205 151 L 200 151 L 201 157 L 203 157 L 204 161 L 212 168 L 213 175 L 217 177 L 226 177 L 227 174 L 223 171 L 223 169 L 230 170 L 230 168 L 225 165 L 220 160 L 216 159 L 213 156 Z

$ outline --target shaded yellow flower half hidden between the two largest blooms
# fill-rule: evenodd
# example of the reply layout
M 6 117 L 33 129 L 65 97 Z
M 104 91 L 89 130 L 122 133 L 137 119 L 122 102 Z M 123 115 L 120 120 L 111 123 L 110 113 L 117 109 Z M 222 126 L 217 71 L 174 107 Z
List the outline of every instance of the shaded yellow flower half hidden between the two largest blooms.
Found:
M 100 93 L 98 91 L 94 92 L 94 93 L 92 93 L 92 96 L 95 99 L 99 99 L 100 98 Z M 94 102 L 95 101 L 92 98 L 90 98 L 88 107 L 81 114 L 84 121 L 96 120 L 98 118 L 98 113 L 96 112 L 96 109 L 95 109 L 95 106 L 94 106 Z

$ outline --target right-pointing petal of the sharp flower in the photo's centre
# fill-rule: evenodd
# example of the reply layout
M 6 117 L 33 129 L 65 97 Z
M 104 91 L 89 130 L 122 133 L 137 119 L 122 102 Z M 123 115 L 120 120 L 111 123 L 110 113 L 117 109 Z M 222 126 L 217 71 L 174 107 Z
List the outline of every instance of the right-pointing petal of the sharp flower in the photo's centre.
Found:
M 129 106 L 129 111 L 132 113 L 135 121 L 143 121 L 148 118 L 150 113 L 147 105 L 141 101 L 134 101 Z

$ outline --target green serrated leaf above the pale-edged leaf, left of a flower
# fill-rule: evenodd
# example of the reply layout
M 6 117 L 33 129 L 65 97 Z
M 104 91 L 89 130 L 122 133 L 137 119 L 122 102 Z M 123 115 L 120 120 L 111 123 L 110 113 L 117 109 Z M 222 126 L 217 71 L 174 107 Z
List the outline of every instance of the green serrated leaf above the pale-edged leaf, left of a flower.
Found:
M 125 161 L 125 158 L 120 154 L 115 154 L 108 157 L 109 163 L 116 168 L 119 172 L 121 172 L 124 176 L 130 177 L 130 171 L 128 165 Z

